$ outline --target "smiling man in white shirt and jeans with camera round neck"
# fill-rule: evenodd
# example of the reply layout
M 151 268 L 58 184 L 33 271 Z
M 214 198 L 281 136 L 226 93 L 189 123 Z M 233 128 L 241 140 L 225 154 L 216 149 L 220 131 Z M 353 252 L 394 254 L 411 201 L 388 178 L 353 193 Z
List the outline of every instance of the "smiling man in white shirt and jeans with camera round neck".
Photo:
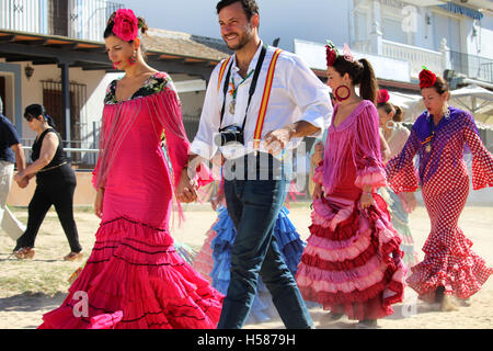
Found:
M 190 163 L 210 159 L 218 148 L 226 158 L 225 195 L 237 237 L 218 329 L 243 326 L 259 273 L 285 326 L 312 328 L 273 229 L 289 185 L 286 150 L 296 148 L 303 136 L 321 135 L 326 127 L 332 114 L 329 90 L 299 57 L 276 53 L 262 43 L 254 0 L 221 0 L 217 12 L 221 36 L 234 55 L 211 73 Z M 232 139 L 239 141 L 223 145 Z M 185 181 L 177 190 L 182 202 L 196 199 L 193 182 L 187 181 L 194 177 L 192 169 L 182 173 Z

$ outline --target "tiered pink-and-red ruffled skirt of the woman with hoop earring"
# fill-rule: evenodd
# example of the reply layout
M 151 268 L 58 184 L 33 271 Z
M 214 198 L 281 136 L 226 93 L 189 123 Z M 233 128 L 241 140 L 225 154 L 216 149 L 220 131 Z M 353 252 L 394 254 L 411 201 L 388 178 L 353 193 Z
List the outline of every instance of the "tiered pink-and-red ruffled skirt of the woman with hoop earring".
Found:
M 392 314 L 390 305 L 402 302 L 405 286 L 400 235 L 385 201 L 374 196 L 377 208 L 365 212 L 328 201 L 314 204 L 311 236 L 296 274 L 305 299 L 354 319 Z

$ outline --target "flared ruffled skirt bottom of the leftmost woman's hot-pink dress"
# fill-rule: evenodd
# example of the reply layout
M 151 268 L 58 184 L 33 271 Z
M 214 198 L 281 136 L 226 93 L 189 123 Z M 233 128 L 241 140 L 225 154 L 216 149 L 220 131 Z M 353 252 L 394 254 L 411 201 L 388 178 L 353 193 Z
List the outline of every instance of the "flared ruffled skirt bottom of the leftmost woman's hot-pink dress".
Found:
M 39 328 L 216 328 L 223 296 L 172 244 L 167 230 L 128 218 L 102 224 L 66 301 Z M 73 314 L 77 292 L 88 296 L 87 316 Z

